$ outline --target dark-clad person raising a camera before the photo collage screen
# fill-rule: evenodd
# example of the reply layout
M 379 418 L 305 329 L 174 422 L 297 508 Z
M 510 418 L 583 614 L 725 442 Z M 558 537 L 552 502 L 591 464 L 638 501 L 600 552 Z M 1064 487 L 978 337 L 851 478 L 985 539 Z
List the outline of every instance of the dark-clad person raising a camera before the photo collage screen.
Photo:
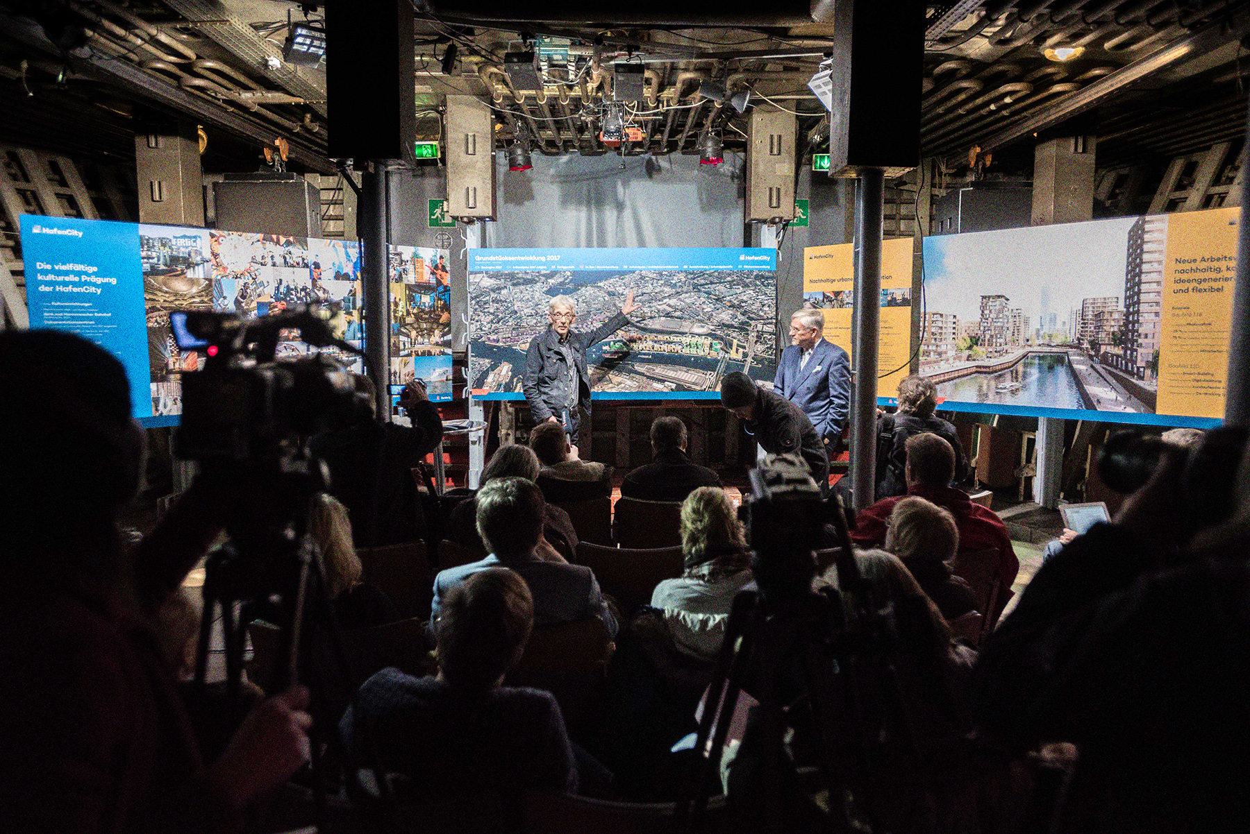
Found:
M 358 548 L 415 542 L 426 529 L 426 518 L 412 468 L 442 439 L 442 417 L 426 396 L 425 383 L 410 380 L 399 405 L 412 424 L 379 421 L 372 380 L 358 375 L 355 381 L 369 410 L 345 428 L 318 434 L 309 446 L 330 468 L 329 492 L 348 507 Z

